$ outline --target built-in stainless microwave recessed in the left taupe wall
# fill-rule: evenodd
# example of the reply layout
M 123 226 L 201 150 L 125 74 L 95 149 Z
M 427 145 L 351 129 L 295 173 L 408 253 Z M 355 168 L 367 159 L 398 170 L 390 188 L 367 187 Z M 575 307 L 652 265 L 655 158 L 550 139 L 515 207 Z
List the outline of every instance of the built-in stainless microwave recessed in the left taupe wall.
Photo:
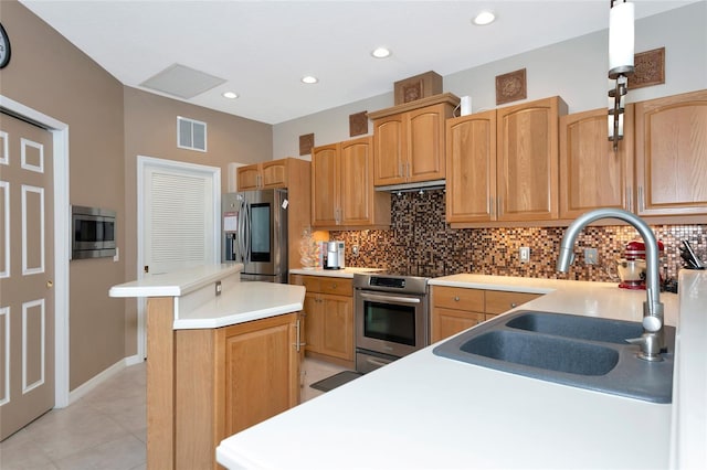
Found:
M 115 256 L 115 217 L 108 209 L 72 205 L 72 259 Z

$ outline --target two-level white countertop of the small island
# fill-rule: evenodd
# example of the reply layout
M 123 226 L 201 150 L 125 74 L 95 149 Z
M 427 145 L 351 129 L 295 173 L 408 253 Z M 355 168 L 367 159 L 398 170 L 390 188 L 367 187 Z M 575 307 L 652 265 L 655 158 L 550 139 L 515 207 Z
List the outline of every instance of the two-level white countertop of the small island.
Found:
M 175 330 L 221 328 L 303 309 L 303 286 L 241 281 L 242 269 L 235 263 L 196 266 L 113 286 L 109 296 L 172 297 Z

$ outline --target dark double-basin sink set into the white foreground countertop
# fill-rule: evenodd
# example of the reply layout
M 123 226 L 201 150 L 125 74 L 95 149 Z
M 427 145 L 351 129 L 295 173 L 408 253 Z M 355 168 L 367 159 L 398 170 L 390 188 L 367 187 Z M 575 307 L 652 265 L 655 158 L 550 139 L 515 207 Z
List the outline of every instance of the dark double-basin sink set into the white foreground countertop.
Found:
M 675 329 L 665 327 L 663 362 L 636 355 L 625 342 L 640 322 L 524 310 L 497 317 L 440 345 L 455 361 L 541 381 L 654 403 L 673 398 Z

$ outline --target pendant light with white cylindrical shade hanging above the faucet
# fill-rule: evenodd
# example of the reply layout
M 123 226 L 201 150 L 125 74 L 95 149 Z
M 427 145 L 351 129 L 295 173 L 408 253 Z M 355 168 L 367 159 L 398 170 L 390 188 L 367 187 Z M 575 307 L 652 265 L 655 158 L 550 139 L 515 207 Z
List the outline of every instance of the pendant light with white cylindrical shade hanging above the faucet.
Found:
M 609 78 L 615 81 L 609 90 L 609 140 L 619 150 L 623 139 L 624 96 L 629 92 L 629 75 L 634 72 L 634 4 L 626 0 L 610 0 L 609 10 Z

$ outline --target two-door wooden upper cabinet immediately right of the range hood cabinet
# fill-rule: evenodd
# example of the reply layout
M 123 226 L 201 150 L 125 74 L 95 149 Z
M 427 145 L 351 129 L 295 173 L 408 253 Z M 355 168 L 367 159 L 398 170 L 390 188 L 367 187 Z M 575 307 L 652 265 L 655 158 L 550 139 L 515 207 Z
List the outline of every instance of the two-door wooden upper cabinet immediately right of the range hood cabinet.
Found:
M 447 120 L 447 222 L 557 220 L 559 97 Z

